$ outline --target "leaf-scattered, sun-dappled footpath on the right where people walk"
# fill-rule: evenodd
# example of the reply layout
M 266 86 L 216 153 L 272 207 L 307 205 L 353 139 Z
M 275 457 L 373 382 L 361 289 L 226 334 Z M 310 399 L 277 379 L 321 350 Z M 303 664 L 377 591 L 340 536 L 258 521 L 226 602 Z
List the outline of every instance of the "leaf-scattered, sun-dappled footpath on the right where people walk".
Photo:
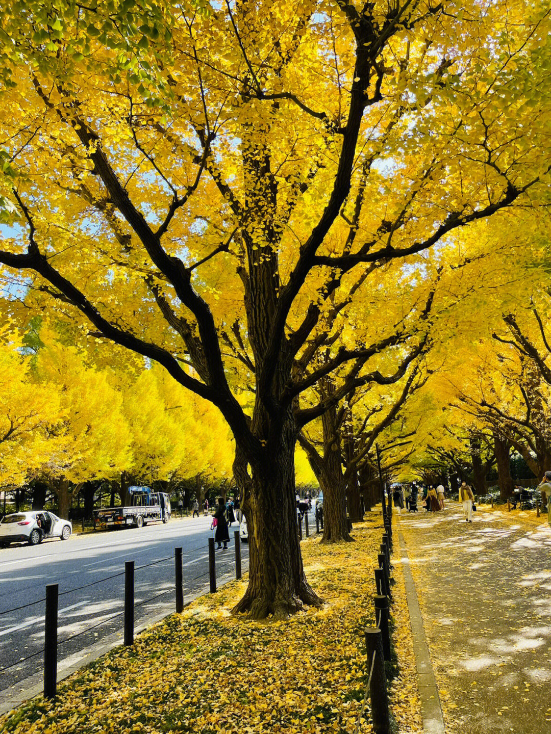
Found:
M 402 514 L 447 734 L 551 732 L 551 531 Z

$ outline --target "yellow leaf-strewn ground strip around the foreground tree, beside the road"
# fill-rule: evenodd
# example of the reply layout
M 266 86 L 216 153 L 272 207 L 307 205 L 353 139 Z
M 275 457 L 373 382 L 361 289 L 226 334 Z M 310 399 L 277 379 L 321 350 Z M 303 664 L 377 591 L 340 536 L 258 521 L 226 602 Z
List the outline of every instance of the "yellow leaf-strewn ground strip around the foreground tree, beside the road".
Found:
M 309 581 L 326 604 L 287 622 L 251 622 L 229 609 L 245 582 L 202 597 L 59 686 L 0 719 L 10 734 L 353 733 L 364 699 L 362 630 L 373 624 L 373 568 L 381 516 L 354 528 L 356 542 L 303 542 Z M 390 687 L 400 733 L 422 730 L 403 578 L 395 576 Z M 369 708 L 360 732 L 369 733 Z

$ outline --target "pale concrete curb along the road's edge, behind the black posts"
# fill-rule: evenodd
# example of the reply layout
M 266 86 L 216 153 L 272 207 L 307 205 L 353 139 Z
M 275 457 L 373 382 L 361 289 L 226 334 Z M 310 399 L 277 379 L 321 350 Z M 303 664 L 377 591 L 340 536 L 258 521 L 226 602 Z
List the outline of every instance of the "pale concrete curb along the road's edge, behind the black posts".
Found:
M 243 575 L 248 573 L 248 563 L 243 564 L 242 573 Z M 217 588 L 220 589 L 221 586 L 225 586 L 230 581 L 235 581 L 234 573 L 226 573 L 223 576 L 220 576 L 220 578 L 217 578 Z M 207 584 L 197 592 L 184 597 L 184 608 L 192 603 L 192 601 L 195 601 L 195 599 L 209 594 L 209 591 L 209 585 Z M 134 628 L 134 636 L 137 636 L 146 628 L 151 627 L 151 625 L 156 624 L 156 622 L 161 622 L 165 617 L 170 617 L 172 614 L 176 614 L 176 611 L 165 610 L 148 617 L 143 622 L 140 622 L 139 625 L 136 625 Z M 101 655 L 109 653 L 109 650 L 112 650 L 113 647 L 118 647 L 118 645 L 123 644 L 123 637 L 124 635 L 122 630 L 114 632 L 95 644 L 90 645 L 90 647 L 85 647 L 84 650 L 79 650 L 78 653 L 70 655 L 68 658 L 65 658 L 65 660 L 58 661 L 57 683 L 60 683 L 61 680 L 65 680 L 65 678 L 73 675 L 73 673 L 76 673 L 79 669 L 93 663 L 93 661 L 98 658 L 101 658 Z M 3 691 L 0 691 L 0 716 L 3 716 L 4 713 L 8 713 L 8 711 L 18 708 L 29 699 L 41 696 L 43 688 L 43 672 L 35 673 L 35 675 L 25 678 L 24 680 L 20 680 L 19 683 L 15 683 L 15 686 L 4 688 Z

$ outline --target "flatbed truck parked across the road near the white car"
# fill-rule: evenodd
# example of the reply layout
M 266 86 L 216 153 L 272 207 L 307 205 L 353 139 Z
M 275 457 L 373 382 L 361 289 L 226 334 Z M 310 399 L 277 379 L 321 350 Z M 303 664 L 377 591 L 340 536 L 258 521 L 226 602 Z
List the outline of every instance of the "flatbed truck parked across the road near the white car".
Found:
M 148 523 L 168 523 L 170 499 L 164 492 L 152 492 L 149 487 L 129 487 L 130 504 L 101 507 L 94 510 L 94 530 L 105 528 L 141 528 Z

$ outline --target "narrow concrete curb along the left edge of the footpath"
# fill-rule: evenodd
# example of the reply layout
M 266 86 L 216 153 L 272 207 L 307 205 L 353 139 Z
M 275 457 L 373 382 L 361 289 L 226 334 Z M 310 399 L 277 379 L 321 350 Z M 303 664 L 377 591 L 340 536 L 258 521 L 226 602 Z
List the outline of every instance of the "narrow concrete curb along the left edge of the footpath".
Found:
M 442 706 L 440 705 L 440 697 L 431 664 L 431 656 L 428 653 L 419 600 L 417 599 L 417 592 L 415 591 L 415 584 L 409 567 L 406 541 L 400 530 L 398 531 L 398 538 L 400 540 L 403 576 L 406 582 L 406 597 L 408 600 L 409 619 L 414 642 L 415 664 L 417 666 L 417 676 L 419 677 L 419 697 L 421 699 L 423 731 L 425 734 L 445 734 Z

